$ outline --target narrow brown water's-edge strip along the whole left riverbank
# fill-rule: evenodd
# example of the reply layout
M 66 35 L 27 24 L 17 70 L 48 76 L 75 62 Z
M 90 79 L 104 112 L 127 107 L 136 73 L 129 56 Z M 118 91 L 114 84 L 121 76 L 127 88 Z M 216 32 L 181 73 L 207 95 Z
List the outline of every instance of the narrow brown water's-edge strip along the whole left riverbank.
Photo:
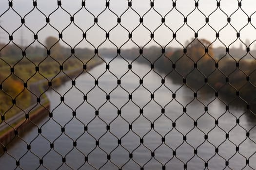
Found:
M 54 85 L 54 88 L 59 87 L 63 83 L 67 81 L 71 81 L 71 78 L 76 78 L 81 74 L 86 73 L 86 71 L 102 64 L 102 62 L 95 62 L 93 64 L 90 64 L 86 67 L 86 69 L 75 69 L 70 70 L 68 72 L 65 72 L 66 74 L 59 74 L 56 77 L 48 78 L 48 80 L 52 80 L 52 85 Z M 68 76 L 67 76 L 68 74 Z M 41 99 L 40 104 L 38 103 L 36 106 L 31 106 L 25 113 L 28 114 L 28 116 L 25 115 L 24 112 L 20 112 L 16 114 L 14 117 L 17 117 L 14 120 L 7 119 L 5 121 L 2 121 L 0 124 L 4 125 L 5 127 L 2 127 L 2 130 L 0 130 L 0 152 L 3 151 L 4 147 L 7 147 L 7 145 L 12 142 L 12 140 L 15 140 L 17 138 L 16 136 L 22 136 L 25 135 L 25 133 L 31 128 L 36 127 L 36 123 L 39 122 L 41 119 L 47 117 L 50 113 L 50 102 L 47 99 L 47 96 L 45 95 L 45 91 L 51 90 L 49 88 L 48 81 L 46 80 L 39 80 L 38 82 L 31 85 L 31 89 L 34 94 L 37 96 L 40 96 L 43 93 L 43 96 Z M 37 101 L 32 101 L 33 103 L 37 103 Z M 31 111 L 31 109 L 33 111 Z M 38 127 L 39 128 L 39 127 Z

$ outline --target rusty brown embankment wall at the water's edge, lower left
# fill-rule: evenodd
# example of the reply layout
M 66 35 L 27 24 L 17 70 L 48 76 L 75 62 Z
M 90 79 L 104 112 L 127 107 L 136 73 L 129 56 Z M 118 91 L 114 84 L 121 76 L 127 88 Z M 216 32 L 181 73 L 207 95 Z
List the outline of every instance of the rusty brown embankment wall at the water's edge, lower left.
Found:
M 13 128 L 10 128 L 0 136 L 0 144 L 4 145 L 0 145 L 0 153 L 3 151 L 2 148 L 6 147 L 12 140 L 15 140 L 18 136 L 24 135 L 27 131 L 30 131 L 31 128 L 35 127 L 33 123 L 37 124 L 42 118 L 49 116 L 50 103 L 47 102 L 44 107 L 39 107 L 31 112 L 31 114 L 29 114 L 29 119 L 25 119 L 24 116 L 24 119 L 21 119 L 18 124 L 12 125 Z M 15 131 L 18 132 L 18 136 Z

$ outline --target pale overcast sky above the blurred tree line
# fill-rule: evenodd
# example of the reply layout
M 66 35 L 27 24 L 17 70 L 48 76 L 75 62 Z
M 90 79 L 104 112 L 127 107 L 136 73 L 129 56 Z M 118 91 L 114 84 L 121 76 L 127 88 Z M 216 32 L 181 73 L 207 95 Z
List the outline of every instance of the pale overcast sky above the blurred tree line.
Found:
M 217 8 L 217 0 L 198 0 L 198 8 L 195 7 L 195 0 L 176 0 L 176 8 L 173 8 L 172 0 L 154 0 L 154 8 L 151 8 L 150 0 L 130 1 L 132 8 L 128 8 L 128 0 L 109 0 L 110 6 L 107 9 L 106 0 L 86 0 L 85 7 L 88 11 L 81 8 L 81 0 L 61 0 L 61 7 L 66 11 L 58 8 L 57 0 L 37 0 L 37 7 L 50 18 L 50 24 L 63 34 L 61 44 L 67 46 L 66 42 L 71 47 L 82 40 L 83 32 L 91 44 L 83 39 L 78 47 L 101 48 L 116 45 L 118 48 L 131 48 L 137 45 L 143 47 L 147 43 L 146 47 L 182 47 L 177 41 L 184 45 L 195 36 L 195 32 L 199 38 L 211 42 L 216 39 L 216 32 L 219 33 L 220 40 L 214 42 L 214 47 L 224 46 L 222 43 L 238 47 L 241 40 L 245 42 L 249 39 L 251 43 L 256 40 L 255 0 L 241 0 L 241 8 L 238 8 L 237 0 L 220 0 L 220 8 Z M 12 9 L 4 13 L 8 8 L 8 0 L 0 0 L 0 26 L 9 34 L 13 34 L 15 43 L 28 45 L 33 42 L 34 34 L 38 34 L 42 43 L 47 36 L 59 36 L 58 31 L 46 24 L 45 16 L 38 9 L 35 8 L 29 13 L 33 9 L 33 0 L 13 0 L 13 9 L 20 16 Z M 53 11 L 55 12 L 52 13 Z M 79 28 L 71 23 L 67 12 L 74 16 L 74 23 Z M 24 16 L 25 25 L 34 33 L 24 25 L 21 26 L 20 17 Z M 94 17 L 98 18 L 98 24 L 94 23 Z M 118 17 L 121 18 L 120 24 L 117 23 Z M 140 17 L 143 17 L 143 24 L 139 23 Z M 165 18 L 165 24 L 161 22 L 162 17 Z M 187 24 L 181 27 L 184 24 L 184 17 L 187 17 Z M 209 24 L 205 22 L 206 17 L 209 17 Z M 228 17 L 231 17 L 230 23 L 227 22 Z M 248 23 L 248 17 L 251 17 L 251 23 Z M 225 25 L 227 26 L 223 28 Z M 0 42 L 6 43 L 9 35 L 2 28 Z M 238 32 L 241 40 L 236 37 Z M 109 33 L 109 39 L 105 41 L 106 33 Z M 128 37 L 129 33 L 132 34 L 131 39 Z M 150 38 L 151 33 L 154 33 L 154 39 Z M 177 34 L 177 40 L 173 39 L 173 33 Z M 255 48 L 255 44 L 251 44 L 250 47 Z

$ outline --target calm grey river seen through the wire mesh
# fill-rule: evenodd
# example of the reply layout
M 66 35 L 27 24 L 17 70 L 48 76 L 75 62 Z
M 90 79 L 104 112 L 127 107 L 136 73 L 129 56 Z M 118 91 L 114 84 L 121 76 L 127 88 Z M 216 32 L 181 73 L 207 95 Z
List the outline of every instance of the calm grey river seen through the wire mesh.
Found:
M 241 170 L 244 167 L 251 170 L 246 159 L 256 169 L 256 122 L 243 109 L 229 106 L 226 110 L 223 102 L 210 94 L 199 93 L 198 101 L 191 89 L 174 84 L 168 78 L 162 85 L 163 75 L 150 71 L 150 66 L 145 64 L 134 62 L 133 72 L 122 59 L 115 59 L 109 65 L 107 71 L 105 64 L 101 64 L 89 70 L 90 74 L 80 75 L 75 86 L 69 81 L 48 91 L 53 118 L 47 117 L 37 123 L 42 129 L 41 134 L 38 134 L 38 128 L 33 128 L 22 136 L 22 140 L 13 141 L 8 154 L 0 157 L 0 169 L 15 169 L 16 159 L 24 170 L 95 170 L 101 167 L 102 170 L 118 170 L 118 167 L 122 170 L 139 170 L 140 167 L 161 170 L 162 166 L 166 170 L 182 170 L 184 164 L 188 170 L 203 170 L 205 163 L 210 170 Z M 98 78 L 98 86 L 92 76 Z M 143 85 L 139 84 L 139 77 L 143 77 Z M 154 99 L 149 91 L 154 92 Z M 110 94 L 109 101 L 106 94 Z M 129 94 L 132 94 L 131 100 Z M 83 100 L 84 95 L 87 101 Z M 60 101 L 61 96 L 64 96 L 64 102 Z M 164 113 L 161 113 L 162 108 Z M 142 114 L 140 109 L 143 109 Z M 75 117 L 72 115 L 74 111 Z M 239 124 L 235 116 L 239 117 Z M 217 119 L 218 125 L 215 124 Z M 153 123 L 154 128 L 151 128 Z M 131 130 L 129 124 L 132 124 Z M 107 125 L 110 125 L 110 131 L 106 129 Z M 84 131 L 85 126 L 87 131 Z M 64 133 L 61 133 L 61 127 L 65 128 Z M 249 130 L 250 137 L 247 137 Z M 73 146 L 75 141 L 76 146 Z M 99 141 L 98 146 L 96 141 Z M 50 148 L 50 143 L 54 143 L 54 148 Z M 31 145 L 29 151 L 27 144 Z M 110 160 L 107 160 L 107 154 L 110 154 Z M 85 156 L 88 156 L 88 162 L 84 161 Z M 65 157 L 65 163 L 62 163 L 62 157 Z M 39 159 L 43 160 L 42 165 Z M 226 161 L 229 167 L 226 167 Z

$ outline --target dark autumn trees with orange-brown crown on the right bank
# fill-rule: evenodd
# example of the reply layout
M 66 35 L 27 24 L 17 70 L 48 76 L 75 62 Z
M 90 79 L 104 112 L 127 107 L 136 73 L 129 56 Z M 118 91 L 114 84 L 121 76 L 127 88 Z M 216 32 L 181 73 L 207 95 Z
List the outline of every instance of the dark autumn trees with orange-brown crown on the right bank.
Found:
M 160 70 L 169 72 L 173 80 L 183 82 L 186 79 L 186 85 L 195 92 L 201 89 L 212 94 L 218 92 L 218 97 L 227 104 L 237 99 L 244 105 L 255 103 L 254 58 L 234 58 L 229 51 L 216 58 L 209 41 L 195 39 L 187 45 L 186 51 L 169 53 L 162 63 Z

